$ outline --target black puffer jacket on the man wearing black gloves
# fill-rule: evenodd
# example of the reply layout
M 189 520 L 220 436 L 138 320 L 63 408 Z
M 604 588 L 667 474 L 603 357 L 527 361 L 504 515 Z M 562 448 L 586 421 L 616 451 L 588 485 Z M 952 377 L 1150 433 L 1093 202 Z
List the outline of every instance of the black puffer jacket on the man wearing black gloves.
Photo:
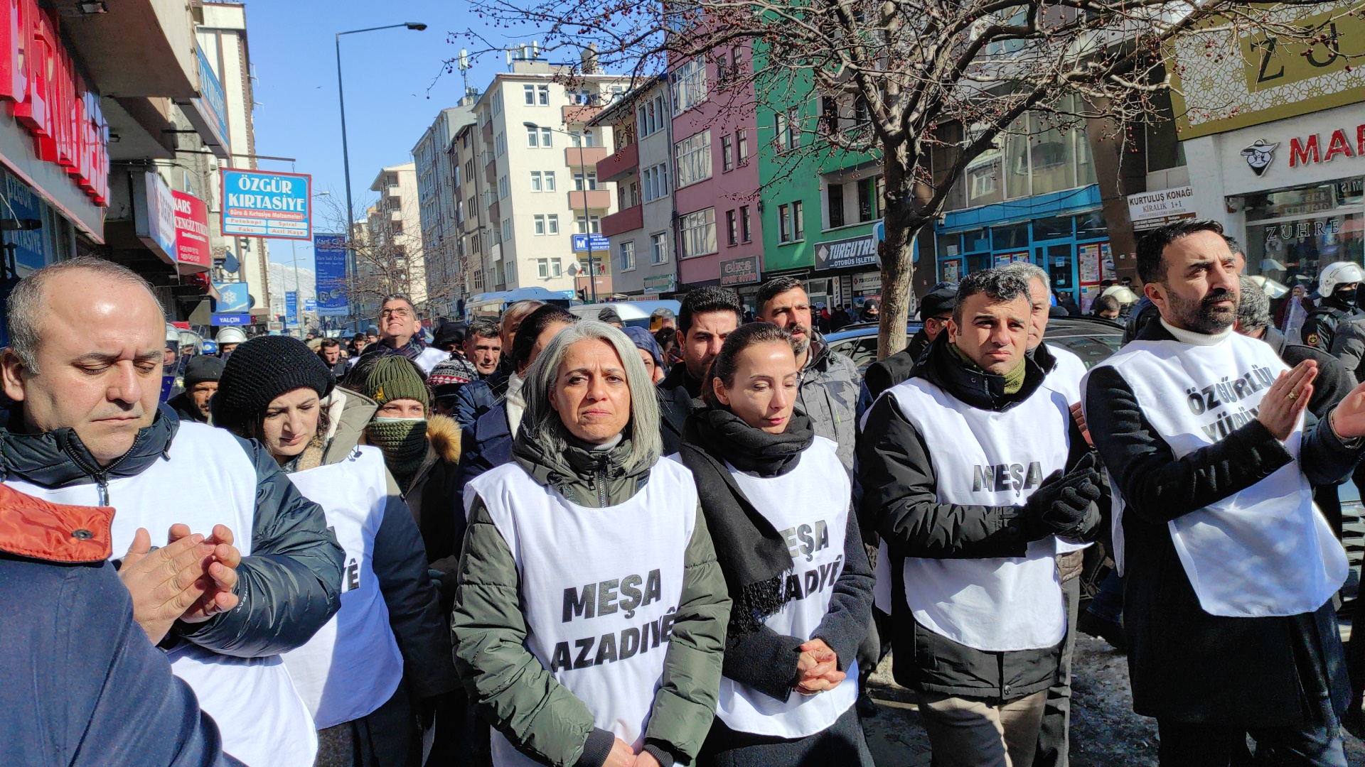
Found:
M 1032 396 L 1046 373 L 1026 359 L 1024 388 L 1005 394 L 1005 378 L 969 371 L 953 359 L 940 334 L 916 363 L 910 378 L 924 378 L 962 403 L 1006 411 Z M 1022 506 L 968 506 L 938 501 L 931 445 L 901 414 L 894 397 L 880 397 L 868 411 L 857 441 L 863 498 L 859 517 L 872 527 L 891 554 L 891 572 L 905 557 L 956 560 L 1022 557 L 1029 538 L 1018 524 Z M 1067 467 L 1087 452 L 1070 424 Z M 1102 498 L 1100 509 L 1108 508 Z M 1091 531 L 1097 535 L 1103 524 Z M 1062 644 L 1016 652 L 987 652 L 939 636 L 915 622 L 905 603 L 904 579 L 891 579 L 891 647 L 895 681 L 912 689 L 1013 700 L 1051 686 Z

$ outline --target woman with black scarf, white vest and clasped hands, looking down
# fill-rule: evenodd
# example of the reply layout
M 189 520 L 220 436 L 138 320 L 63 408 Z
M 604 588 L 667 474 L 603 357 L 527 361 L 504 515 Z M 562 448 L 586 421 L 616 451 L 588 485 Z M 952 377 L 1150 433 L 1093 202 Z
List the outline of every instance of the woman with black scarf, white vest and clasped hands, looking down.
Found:
M 872 570 L 835 445 L 793 412 L 799 375 L 785 330 L 743 325 L 702 386 L 710 407 L 684 429 L 734 603 L 699 764 L 872 764 L 853 707 Z

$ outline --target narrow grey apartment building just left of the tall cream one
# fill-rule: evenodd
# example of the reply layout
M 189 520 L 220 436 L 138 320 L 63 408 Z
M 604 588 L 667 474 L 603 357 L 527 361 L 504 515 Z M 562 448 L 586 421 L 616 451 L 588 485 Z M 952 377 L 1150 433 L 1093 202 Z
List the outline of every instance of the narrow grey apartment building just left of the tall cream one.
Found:
M 460 128 L 474 124 L 472 98 L 441 109 L 412 147 L 416 168 L 418 213 L 422 221 L 422 252 L 426 259 L 426 292 L 433 315 L 456 313 L 464 292 L 460 274 L 460 206 L 456 195 L 460 164 L 450 145 Z

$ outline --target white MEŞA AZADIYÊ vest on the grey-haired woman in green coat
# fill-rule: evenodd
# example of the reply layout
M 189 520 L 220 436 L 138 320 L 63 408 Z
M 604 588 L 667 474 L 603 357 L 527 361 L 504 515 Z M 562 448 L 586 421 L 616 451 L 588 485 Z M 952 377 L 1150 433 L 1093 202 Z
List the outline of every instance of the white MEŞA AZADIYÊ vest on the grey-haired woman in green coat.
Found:
M 516 561 L 527 650 L 587 706 L 598 727 L 639 751 L 696 527 L 692 474 L 659 460 L 631 500 L 588 508 L 511 463 L 465 486 L 465 513 L 474 495 Z M 495 729 L 493 763 L 535 764 Z

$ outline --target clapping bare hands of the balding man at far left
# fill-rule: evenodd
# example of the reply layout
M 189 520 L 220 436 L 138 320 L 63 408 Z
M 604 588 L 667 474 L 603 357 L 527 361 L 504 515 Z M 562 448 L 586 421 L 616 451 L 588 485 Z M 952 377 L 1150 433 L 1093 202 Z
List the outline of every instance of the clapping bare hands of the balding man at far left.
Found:
M 138 528 L 123 555 L 119 580 L 132 596 L 132 618 L 152 644 L 161 641 L 171 625 L 203 598 L 213 546 L 202 535 L 183 535 L 152 550 L 152 535 Z

